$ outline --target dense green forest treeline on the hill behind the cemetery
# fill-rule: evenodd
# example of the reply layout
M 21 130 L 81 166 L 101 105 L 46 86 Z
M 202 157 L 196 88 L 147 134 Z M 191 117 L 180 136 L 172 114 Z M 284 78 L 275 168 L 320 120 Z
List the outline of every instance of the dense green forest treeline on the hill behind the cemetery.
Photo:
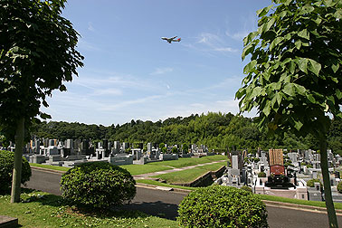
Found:
M 152 142 L 167 145 L 203 144 L 209 149 L 248 149 L 256 151 L 269 148 L 318 149 L 318 142 L 310 135 L 297 138 L 292 134 L 268 137 L 258 130 L 254 119 L 234 116 L 232 113 L 208 112 L 189 117 L 169 118 L 157 122 L 132 119 L 123 125 L 84 124 L 78 122 L 43 121 L 33 130 L 38 138 L 59 138 L 65 140 L 90 138 L 98 141 L 109 139 L 120 142 Z M 328 134 L 328 147 L 342 155 L 342 121 L 333 120 Z

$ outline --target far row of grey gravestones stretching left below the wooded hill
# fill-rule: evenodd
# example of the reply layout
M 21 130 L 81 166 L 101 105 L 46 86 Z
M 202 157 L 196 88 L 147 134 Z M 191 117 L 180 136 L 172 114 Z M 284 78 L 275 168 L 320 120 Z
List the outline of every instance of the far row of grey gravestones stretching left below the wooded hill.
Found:
M 14 144 L 8 147 L 1 147 L 14 151 Z M 175 150 L 176 149 L 176 150 Z M 176 153 L 172 153 L 176 151 Z M 52 166 L 72 167 L 85 162 L 107 161 L 112 165 L 144 165 L 147 163 L 167 160 L 177 160 L 178 157 L 203 157 L 214 155 L 209 153 L 204 145 L 197 147 L 192 145 L 188 151 L 183 151 L 177 145 L 159 148 L 157 144 L 147 143 L 147 151 L 144 151 L 143 144 L 129 144 L 128 142 L 109 142 L 103 139 L 100 142 L 92 143 L 88 139 L 73 140 L 66 139 L 33 139 L 24 147 L 24 157 L 30 163 L 46 164 Z

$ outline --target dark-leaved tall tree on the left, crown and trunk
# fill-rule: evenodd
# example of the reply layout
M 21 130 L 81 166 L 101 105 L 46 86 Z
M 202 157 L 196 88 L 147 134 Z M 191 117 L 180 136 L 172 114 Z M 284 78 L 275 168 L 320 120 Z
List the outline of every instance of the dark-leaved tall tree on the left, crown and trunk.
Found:
M 61 16 L 65 0 L 0 1 L 0 130 L 15 141 L 11 202 L 20 200 L 24 136 L 37 116 L 49 115 L 46 96 L 66 90 L 83 57 L 78 33 Z

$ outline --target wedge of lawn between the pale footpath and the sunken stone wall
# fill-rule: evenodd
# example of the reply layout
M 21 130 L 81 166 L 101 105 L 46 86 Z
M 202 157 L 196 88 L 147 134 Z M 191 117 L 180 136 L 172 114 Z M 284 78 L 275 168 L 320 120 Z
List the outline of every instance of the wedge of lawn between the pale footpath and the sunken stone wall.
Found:
M 153 176 L 157 178 L 161 178 L 166 180 L 167 183 L 189 183 L 195 181 L 195 179 L 199 176 L 204 175 L 208 171 L 214 171 L 219 169 L 222 166 L 225 166 L 226 162 L 220 162 L 207 166 L 197 166 L 192 169 L 185 169 L 182 171 L 177 171 L 173 173 Z

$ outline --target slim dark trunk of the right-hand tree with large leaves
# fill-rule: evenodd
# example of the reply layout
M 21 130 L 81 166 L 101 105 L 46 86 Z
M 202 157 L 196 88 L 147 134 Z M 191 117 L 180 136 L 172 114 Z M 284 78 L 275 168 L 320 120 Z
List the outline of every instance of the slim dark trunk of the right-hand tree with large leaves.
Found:
M 324 195 L 326 198 L 326 207 L 328 212 L 328 221 L 330 228 L 338 228 L 335 207 L 331 196 L 330 176 L 328 172 L 327 138 L 319 139 L 320 149 L 320 167 L 322 170 Z

